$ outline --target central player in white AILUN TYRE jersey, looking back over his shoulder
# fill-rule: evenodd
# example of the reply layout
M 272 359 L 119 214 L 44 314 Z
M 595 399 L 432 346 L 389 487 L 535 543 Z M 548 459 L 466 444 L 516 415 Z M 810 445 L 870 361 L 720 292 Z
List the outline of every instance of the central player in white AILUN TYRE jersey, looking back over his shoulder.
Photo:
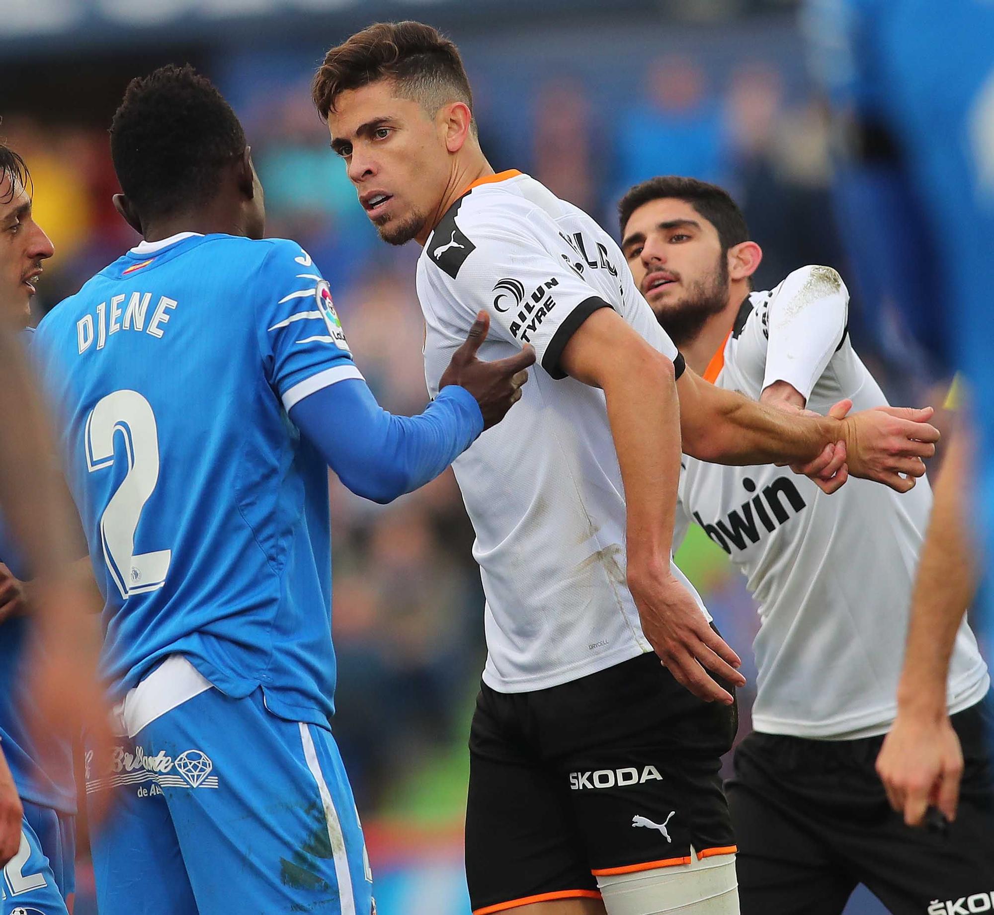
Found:
M 746 464 L 845 439 L 850 471 L 905 490 L 898 472 L 920 475 L 932 448 L 911 439 L 933 430 L 883 412 L 786 416 L 684 372 L 610 236 L 527 175 L 494 174 L 458 51 L 430 27 L 352 36 L 313 95 L 381 236 L 423 245 L 428 388 L 481 308 L 487 352 L 530 344 L 541 361 L 509 421 L 454 465 L 487 598 L 474 910 L 738 911 L 718 779 L 735 712 L 717 678 L 743 679 L 670 559 L 681 435 Z M 884 439 L 901 457 L 871 456 Z M 830 475 L 842 448 L 823 457 Z

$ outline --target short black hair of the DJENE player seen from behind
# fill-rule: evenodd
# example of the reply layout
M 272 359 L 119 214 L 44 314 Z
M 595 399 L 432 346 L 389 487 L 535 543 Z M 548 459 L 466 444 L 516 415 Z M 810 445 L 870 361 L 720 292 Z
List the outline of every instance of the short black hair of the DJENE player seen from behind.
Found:
M 189 65 L 132 79 L 110 124 L 117 180 L 145 219 L 212 200 L 222 167 L 245 149 L 232 106 Z

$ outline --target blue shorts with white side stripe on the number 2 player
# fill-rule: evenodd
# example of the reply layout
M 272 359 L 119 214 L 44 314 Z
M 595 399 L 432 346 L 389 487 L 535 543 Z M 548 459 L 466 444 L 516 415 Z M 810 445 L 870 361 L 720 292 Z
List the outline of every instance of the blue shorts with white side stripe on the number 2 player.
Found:
M 131 690 L 92 831 L 100 915 L 370 915 L 372 874 L 327 726 L 232 698 L 180 656 Z

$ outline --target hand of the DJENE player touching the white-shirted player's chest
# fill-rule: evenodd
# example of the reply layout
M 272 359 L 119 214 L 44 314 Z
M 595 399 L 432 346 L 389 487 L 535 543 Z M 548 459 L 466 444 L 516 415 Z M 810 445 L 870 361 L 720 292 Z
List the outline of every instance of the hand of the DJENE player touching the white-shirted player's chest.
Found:
M 439 389 L 447 384 L 465 387 L 480 405 L 483 428 L 500 422 L 507 411 L 521 399 L 521 387 L 528 381 L 529 366 L 535 363 L 535 348 L 527 345 L 515 356 L 492 363 L 476 358 L 476 351 L 486 340 L 490 316 L 481 311 L 469 329 L 466 342 L 452 354 L 448 368 L 442 373 Z

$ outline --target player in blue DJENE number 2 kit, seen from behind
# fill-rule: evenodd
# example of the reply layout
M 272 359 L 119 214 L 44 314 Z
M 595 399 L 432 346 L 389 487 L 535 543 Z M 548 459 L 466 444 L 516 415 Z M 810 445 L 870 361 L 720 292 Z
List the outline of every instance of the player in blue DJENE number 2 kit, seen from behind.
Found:
M 329 729 L 327 469 L 388 502 L 520 396 L 534 356 L 453 355 L 419 416 L 377 404 L 328 283 L 263 231 L 242 126 L 189 68 L 135 79 L 110 129 L 144 240 L 57 306 L 35 355 L 105 598 L 121 745 L 87 789 L 102 915 L 369 915 L 371 876 Z M 460 386 L 461 385 L 461 386 Z

